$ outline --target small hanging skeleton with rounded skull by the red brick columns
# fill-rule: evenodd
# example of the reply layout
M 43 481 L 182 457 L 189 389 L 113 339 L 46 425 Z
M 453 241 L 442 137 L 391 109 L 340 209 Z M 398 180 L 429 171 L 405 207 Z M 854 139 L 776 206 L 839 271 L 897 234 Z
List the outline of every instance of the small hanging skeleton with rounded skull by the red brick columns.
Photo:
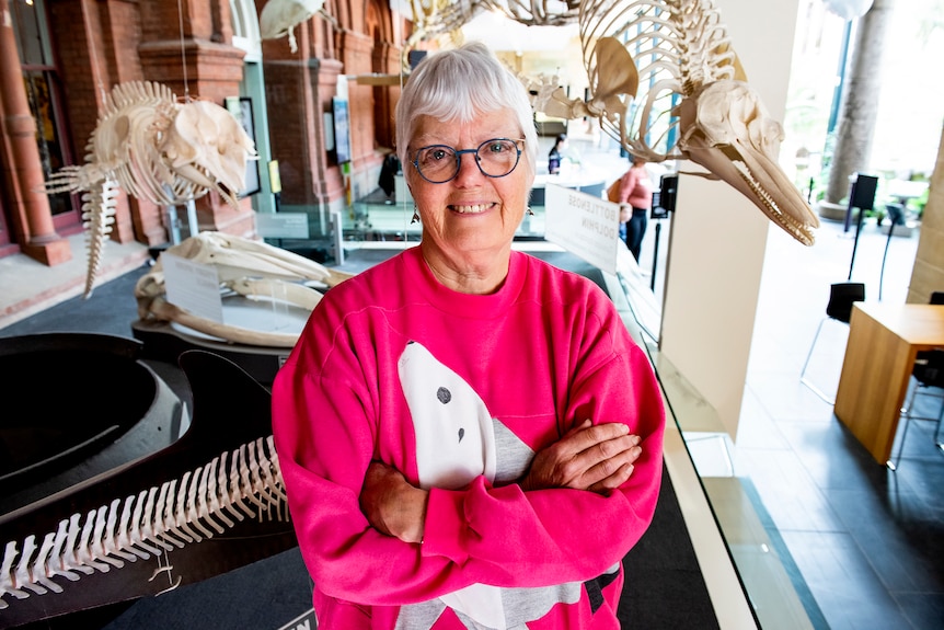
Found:
M 255 158 L 252 140 L 227 110 L 206 101 L 180 103 L 168 87 L 149 81 L 114 87 L 85 151 L 84 164 L 65 167 L 43 188 L 47 194 L 84 192 L 85 297 L 114 224 L 116 188 L 159 206 L 215 191 L 238 207 L 246 161 Z

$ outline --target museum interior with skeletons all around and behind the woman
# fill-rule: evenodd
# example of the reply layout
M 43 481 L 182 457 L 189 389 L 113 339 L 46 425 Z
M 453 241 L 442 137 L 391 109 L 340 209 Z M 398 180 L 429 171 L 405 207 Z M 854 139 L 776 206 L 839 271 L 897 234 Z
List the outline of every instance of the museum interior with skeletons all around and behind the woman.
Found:
M 471 41 L 533 108 L 513 250 L 602 289 L 663 398 L 621 627 L 944 627 L 940 1 L 0 13 L 0 629 L 319 626 L 273 383 L 426 233 L 395 107 Z

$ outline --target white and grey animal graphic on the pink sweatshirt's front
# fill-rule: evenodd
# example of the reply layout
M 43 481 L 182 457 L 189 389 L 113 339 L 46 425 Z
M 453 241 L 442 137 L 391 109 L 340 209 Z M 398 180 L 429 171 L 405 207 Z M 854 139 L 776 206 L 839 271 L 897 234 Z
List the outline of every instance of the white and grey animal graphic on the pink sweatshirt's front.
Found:
M 416 465 L 423 488 L 460 489 L 482 474 L 490 482 L 516 481 L 534 451 L 492 417 L 485 402 L 458 374 L 416 342 L 398 363 L 400 383 L 416 433 Z M 557 603 L 580 598 L 579 582 L 542 588 L 473 584 L 423 604 L 403 606 L 396 628 L 429 629 L 445 607 L 470 630 L 523 629 Z

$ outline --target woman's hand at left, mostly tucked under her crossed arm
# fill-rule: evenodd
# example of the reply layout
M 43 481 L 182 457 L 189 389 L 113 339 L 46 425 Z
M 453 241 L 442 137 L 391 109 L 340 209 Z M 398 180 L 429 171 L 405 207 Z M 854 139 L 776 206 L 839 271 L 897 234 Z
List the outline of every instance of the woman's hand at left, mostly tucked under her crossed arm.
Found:
M 396 469 L 371 461 L 360 490 L 360 511 L 381 534 L 404 542 L 422 542 L 428 495 Z

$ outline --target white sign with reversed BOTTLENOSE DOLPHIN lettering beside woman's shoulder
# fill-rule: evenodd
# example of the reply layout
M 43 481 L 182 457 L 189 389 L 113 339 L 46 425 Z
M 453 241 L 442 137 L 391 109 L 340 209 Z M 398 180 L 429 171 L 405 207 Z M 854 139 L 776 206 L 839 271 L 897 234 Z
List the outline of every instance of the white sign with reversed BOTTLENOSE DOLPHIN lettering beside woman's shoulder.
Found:
M 549 183 L 544 188 L 544 239 L 602 272 L 617 273 L 620 205 Z

